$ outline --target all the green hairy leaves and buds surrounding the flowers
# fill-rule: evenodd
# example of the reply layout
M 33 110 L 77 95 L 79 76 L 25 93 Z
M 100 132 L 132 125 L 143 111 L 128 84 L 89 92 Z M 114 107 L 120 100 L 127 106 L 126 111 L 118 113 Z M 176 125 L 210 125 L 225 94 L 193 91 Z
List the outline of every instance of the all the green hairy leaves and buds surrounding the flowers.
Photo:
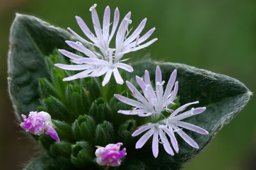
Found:
M 146 69 L 154 77 L 154 70 L 159 65 L 163 79 L 167 81 L 170 73 L 177 69 L 179 103 L 199 100 L 200 105 L 207 107 L 203 114 L 188 118 L 188 122 L 209 131 L 209 135 L 188 132 L 199 144 L 199 150 L 177 137 L 178 154 L 172 157 L 160 147 L 159 157 L 154 158 L 149 142 L 136 150 L 134 146 L 138 138 L 131 137 L 134 129 L 143 125 L 145 119 L 117 113 L 118 109 L 129 108 L 113 98 L 115 93 L 129 95 L 125 85 L 117 85 L 111 80 L 102 87 L 102 77 L 62 81 L 75 72 L 54 67 L 54 63 L 69 61 L 53 49 L 67 49 L 63 40 L 70 39 L 67 32 L 35 17 L 18 15 L 13 22 L 9 88 L 15 111 L 17 115 L 36 109 L 49 112 L 61 140 L 54 143 L 47 135 L 35 137 L 47 155 L 35 159 L 27 169 L 104 169 L 93 160 L 95 146 L 118 142 L 125 144 L 127 157 L 122 166 L 115 169 L 179 169 L 202 151 L 250 99 L 251 93 L 244 84 L 225 75 L 176 63 L 141 61 L 134 64 L 134 73 L 124 73 L 125 80 L 134 81 L 134 75 L 143 76 Z

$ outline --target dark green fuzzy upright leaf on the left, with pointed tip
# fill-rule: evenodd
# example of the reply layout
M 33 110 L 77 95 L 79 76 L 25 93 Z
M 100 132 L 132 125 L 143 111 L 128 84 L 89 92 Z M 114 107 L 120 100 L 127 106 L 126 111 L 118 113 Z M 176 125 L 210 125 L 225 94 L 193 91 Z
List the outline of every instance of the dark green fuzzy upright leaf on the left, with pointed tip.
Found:
M 38 78 L 49 78 L 45 56 L 56 48 L 65 47 L 72 36 L 60 27 L 51 26 L 36 17 L 16 14 L 10 31 L 8 53 L 8 86 L 18 118 L 36 111 L 40 104 Z

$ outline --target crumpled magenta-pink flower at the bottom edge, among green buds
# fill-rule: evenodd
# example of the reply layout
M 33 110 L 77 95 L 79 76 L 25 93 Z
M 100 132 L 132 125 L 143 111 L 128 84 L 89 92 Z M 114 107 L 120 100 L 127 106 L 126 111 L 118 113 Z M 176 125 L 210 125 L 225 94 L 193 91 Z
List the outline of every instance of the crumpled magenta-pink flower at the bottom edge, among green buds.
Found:
M 105 148 L 102 146 L 97 146 L 95 151 L 96 162 L 100 166 L 120 166 L 121 159 L 127 155 L 126 149 L 120 150 L 123 143 L 108 144 Z

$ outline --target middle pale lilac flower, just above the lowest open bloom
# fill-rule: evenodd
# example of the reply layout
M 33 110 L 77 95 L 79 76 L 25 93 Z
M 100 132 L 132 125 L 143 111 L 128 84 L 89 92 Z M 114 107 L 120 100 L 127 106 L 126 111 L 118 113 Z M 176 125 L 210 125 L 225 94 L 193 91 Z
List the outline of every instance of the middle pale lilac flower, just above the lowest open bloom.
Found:
M 132 110 L 129 111 L 120 110 L 118 112 L 128 115 L 138 114 L 138 116 L 152 115 L 153 118 L 158 118 L 159 116 L 161 116 L 161 112 L 163 112 L 164 110 L 170 112 L 168 106 L 170 104 L 173 104 L 173 100 L 175 99 L 178 92 L 178 82 L 175 82 L 176 77 L 177 70 L 174 70 L 164 91 L 164 81 L 162 81 L 161 69 L 159 68 L 159 66 L 157 66 L 155 81 L 156 89 L 154 89 L 150 82 L 149 73 L 146 70 L 144 77 L 145 80 L 143 80 L 141 77 L 136 76 L 136 81 L 142 89 L 144 96 L 141 95 L 140 91 L 138 91 L 138 89 L 136 89 L 131 84 L 131 82 L 127 81 L 126 84 L 132 92 L 132 96 L 138 101 L 124 97 L 122 95 L 115 95 L 115 97 L 121 102 L 132 105 L 134 107 Z

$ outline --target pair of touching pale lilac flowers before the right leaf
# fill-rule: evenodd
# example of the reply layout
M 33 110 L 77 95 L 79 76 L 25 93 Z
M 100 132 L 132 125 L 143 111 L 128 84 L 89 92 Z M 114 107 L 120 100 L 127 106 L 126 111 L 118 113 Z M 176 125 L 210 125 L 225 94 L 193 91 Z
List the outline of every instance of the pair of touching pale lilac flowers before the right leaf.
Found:
M 148 139 L 153 135 L 152 152 L 154 157 L 157 157 L 158 155 L 159 139 L 161 140 L 161 144 L 164 146 L 164 150 L 168 154 L 174 155 L 174 151 L 178 153 L 179 146 L 174 134 L 175 132 L 177 132 L 177 134 L 180 135 L 180 137 L 182 137 L 182 139 L 184 139 L 184 141 L 186 141 L 186 143 L 188 143 L 190 146 L 196 149 L 199 148 L 198 144 L 193 139 L 191 139 L 191 137 L 189 137 L 189 135 L 186 134 L 182 128 L 192 130 L 199 134 L 208 134 L 207 130 L 204 130 L 204 128 L 200 128 L 196 125 L 182 121 L 185 118 L 195 116 L 196 114 L 200 114 L 205 111 L 205 107 L 198 107 L 192 108 L 189 111 L 182 112 L 190 105 L 198 104 L 198 101 L 184 104 L 175 111 L 168 109 L 168 107 L 174 104 L 173 100 L 175 99 L 178 92 L 178 82 L 175 82 L 176 77 L 177 70 L 174 70 L 164 91 L 164 81 L 162 81 L 161 69 L 159 66 L 157 66 L 155 89 L 151 84 L 149 73 L 146 70 L 144 80 L 143 78 L 136 76 L 136 81 L 143 91 L 144 96 L 141 95 L 140 91 L 138 91 L 138 89 L 136 89 L 129 81 L 127 81 L 126 84 L 130 89 L 132 96 L 136 98 L 136 100 L 124 97 L 122 95 L 115 95 L 118 100 L 133 107 L 132 110 L 120 110 L 118 112 L 127 115 L 138 115 L 142 117 L 151 116 L 152 120 L 156 121 L 156 123 L 147 123 L 146 125 L 139 127 L 132 134 L 132 136 L 135 137 L 147 131 L 136 143 L 135 147 L 137 149 L 142 148 Z M 170 113 L 170 116 L 165 118 L 163 112 Z M 182 113 L 179 114 L 180 112 Z M 163 119 L 161 119 L 161 117 L 163 117 Z M 166 137 L 166 134 L 170 138 L 170 142 L 168 137 Z M 172 144 L 174 151 L 170 143 Z

